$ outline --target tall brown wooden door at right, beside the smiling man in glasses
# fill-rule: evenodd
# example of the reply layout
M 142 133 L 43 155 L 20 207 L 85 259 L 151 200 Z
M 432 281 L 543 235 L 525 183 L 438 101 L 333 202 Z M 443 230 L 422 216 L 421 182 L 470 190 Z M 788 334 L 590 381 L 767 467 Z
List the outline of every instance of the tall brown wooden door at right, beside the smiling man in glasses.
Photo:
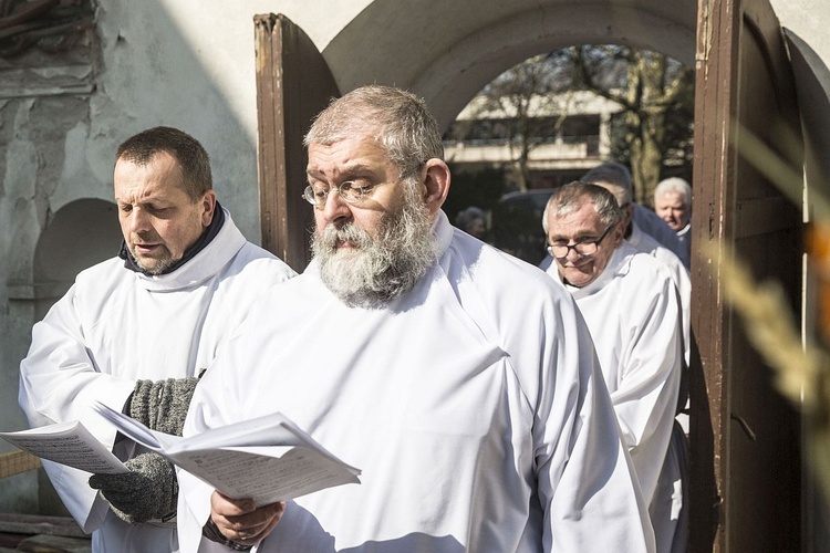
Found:
M 713 249 L 781 283 L 798 320 L 801 206 L 739 154 L 748 140 L 737 133 L 800 171 L 792 79 L 768 1 L 699 0 L 696 60 L 691 551 L 800 551 L 799 417 L 725 303 L 728 252 Z

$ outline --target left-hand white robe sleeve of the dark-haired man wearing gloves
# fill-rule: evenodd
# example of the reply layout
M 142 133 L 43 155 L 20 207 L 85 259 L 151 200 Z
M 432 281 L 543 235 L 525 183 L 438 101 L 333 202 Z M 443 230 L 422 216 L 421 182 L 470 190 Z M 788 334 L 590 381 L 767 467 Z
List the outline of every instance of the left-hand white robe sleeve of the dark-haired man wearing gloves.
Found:
M 121 410 L 135 387 L 97 371 L 84 343 L 72 286 L 32 328 L 32 345 L 20 364 L 19 403 L 32 427 L 81 420 L 103 444 L 112 448 L 115 428 L 91 410 L 93 400 Z M 96 491 L 87 486 L 90 474 L 44 461 L 61 499 L 86 532 L 103 522 L 106 505 L 98 501 L 91 515 Z

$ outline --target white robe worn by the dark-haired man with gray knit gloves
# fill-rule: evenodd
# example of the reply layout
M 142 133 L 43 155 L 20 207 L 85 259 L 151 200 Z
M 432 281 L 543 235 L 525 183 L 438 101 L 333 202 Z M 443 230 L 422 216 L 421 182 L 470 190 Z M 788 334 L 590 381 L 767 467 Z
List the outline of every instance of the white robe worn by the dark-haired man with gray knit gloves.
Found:
M 198 375 L 268 288 L 294 272 L 247 242 L 225 211 L 222 228 L 176 271 L 147 276 L 114 258 L 82 271 L 32 330 L 20 364 L 20 407 L 32 427 L 81 420 L 112 447 L 114 427 L 94 401 L 122 410 L 138 379 Z M 134 455 L 129 440 L 114 451 Z M 61 500 L 96 552 L 177 550 L 175 528 L 131 525 L 90 488 L 90 473 L 43 461 Z

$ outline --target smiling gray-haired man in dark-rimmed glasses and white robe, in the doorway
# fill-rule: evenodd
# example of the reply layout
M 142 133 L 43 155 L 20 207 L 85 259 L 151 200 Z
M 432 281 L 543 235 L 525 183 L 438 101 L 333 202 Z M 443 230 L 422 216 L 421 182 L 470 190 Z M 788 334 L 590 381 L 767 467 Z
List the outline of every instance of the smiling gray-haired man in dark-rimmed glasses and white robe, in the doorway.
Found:
M 548 273 L 573 295 L 591 331 L 657 551 L 685 551 L 683 482 L 675 489 L 683 442 L 672 441 L 683 361 L 676 286 L 663 264 L 623 240 L 624 215 L 603 187 L 562 186 L 542 221 L 554 261 Z

